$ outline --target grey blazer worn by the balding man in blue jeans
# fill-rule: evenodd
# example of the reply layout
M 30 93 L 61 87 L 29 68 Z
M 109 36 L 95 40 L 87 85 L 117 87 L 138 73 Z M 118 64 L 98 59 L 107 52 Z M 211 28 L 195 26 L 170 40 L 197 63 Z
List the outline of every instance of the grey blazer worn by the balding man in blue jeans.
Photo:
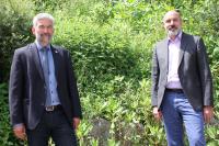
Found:
M 159 42 L 152 57 L 152 106 L 158 108 L 168 81 L 168 38 Z M 189 103 L 195 110 L 212 105 L 212 80 L 203 40 L 183 33 L 180 49 L 177 72 Z

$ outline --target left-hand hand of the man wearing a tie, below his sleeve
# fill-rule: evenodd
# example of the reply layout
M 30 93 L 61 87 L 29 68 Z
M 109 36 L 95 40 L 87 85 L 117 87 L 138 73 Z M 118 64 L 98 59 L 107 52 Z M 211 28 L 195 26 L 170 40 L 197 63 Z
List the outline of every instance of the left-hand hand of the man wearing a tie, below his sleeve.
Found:
M 26 139 L 26 130 L 23 124 L 13 127 L 14 135 L 20 139 Z

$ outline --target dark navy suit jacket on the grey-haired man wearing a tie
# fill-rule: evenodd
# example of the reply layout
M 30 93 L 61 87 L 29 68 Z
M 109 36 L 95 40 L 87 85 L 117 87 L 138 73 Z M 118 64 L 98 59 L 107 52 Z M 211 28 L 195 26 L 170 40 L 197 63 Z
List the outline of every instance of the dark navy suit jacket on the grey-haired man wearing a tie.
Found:
M 69 52 L 51 46 L 57 79 L 57 92 L 62 109 L 72 123 L 81 117 L 81 105 L 77 81 Z M 30 130 L 41 121 L 46 101 L 46 83 L 36 44 L 30 44 L 14 52 L 10 72 L 9 103 L 12 125 L 24 123 Z

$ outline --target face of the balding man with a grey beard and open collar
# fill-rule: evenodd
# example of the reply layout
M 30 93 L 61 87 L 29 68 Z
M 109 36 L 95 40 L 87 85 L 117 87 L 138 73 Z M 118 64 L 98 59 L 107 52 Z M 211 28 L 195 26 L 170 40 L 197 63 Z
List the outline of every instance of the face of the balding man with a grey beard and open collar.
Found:
M 168 12 L 164 15 L 163 24 L 170 37 L 176 36 L 178 32 L 181 31 L 181 26 L 182 26 L 180 14 L 175 11 Z

